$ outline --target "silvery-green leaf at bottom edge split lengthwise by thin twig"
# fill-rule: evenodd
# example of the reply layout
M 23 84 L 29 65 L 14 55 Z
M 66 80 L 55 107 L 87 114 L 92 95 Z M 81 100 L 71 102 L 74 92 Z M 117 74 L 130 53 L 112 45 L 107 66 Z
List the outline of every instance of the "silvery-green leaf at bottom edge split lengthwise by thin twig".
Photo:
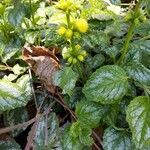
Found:
M 47 123 L 47 128 L 46 128 Z M 45 129 L 46 128 L 46 129 Z M 45 137 L 47 132 L 47 147 L 45 145 Z M 62 150 L 59 139 L 59 123 L 56 115 L 51 113 L 46 122 L 46 118 L 42 117 L 38 123 L 35 138 L 33 141 L 36 150 L 50 149 L 55 150 L 58 148 Z

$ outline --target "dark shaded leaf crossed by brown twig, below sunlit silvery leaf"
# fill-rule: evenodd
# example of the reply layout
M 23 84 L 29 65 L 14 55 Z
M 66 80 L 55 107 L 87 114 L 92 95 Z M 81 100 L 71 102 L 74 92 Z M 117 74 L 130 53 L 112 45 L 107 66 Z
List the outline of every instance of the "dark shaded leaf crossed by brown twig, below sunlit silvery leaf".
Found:
M 17 108 L 11 111 L 6 111 L 3 113 L 3 117 L 4 117 L 4 124 L 6 127 L 26 122 L 29 119 L 28 112 L 25 107 Z M 26 127 L 13 130 L 11 132 L 11 135 L 15 137 L 25 129 Z

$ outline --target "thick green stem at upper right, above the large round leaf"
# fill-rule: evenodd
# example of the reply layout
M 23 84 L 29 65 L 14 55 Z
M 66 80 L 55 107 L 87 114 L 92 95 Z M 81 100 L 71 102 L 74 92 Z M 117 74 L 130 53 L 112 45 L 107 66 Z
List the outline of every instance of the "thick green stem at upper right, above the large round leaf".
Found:
M 134 32 L 134 28 L 135 28 L 135 19 L 138 18 L 138 13 L 139 13 L 139 8 L 140 8 L 140 4 L 141 4 L 142 0 L 139 0 L 139 2 L 137 3 L 136 7 L 135 7 L 135 10 L 134 10 L 134 19 L 132 20 L 132 24 L 129 28 L 129 31 L 128 31 L 128 34 L 127 34 L 127 37 L 126 37 L 126 40 L 125 40 L 125 43 L 124 43 L 124 46 L 123 46 L 123 49 L 122 49 L 122 54 L 121 54 L 121 57 L 120 59 L 118 60 L 118 64 L 120 64 L 121 62 L 124 61 L 124 58 L 128 52 L 128 49 L 129 49 L 129 44 L 130 44 L 130 41 L 132 39 L 132 36 L 133 36 L 133 32 Z

